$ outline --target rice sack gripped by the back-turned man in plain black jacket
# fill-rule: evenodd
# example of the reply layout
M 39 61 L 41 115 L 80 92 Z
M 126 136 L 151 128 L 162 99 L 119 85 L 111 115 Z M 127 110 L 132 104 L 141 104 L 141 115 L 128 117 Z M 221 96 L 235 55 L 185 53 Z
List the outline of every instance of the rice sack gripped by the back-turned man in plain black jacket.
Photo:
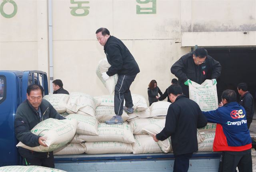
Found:
M 156 123 L 152 123 L 149 125 L 146 125 L 142 128 L 142 131 L 146 132 L 149 135 L 156 135 L 160 133 L 165 126 L 165 119 L 161 119 L 157 121 Z M 168 153 L 172 149 L 172 144 L 171 144 L 171 138 L 169 137 L 168 139 L 164 141 L 158 141 L 157 144 L 159 145 L 160 149 L 164 153 Z

